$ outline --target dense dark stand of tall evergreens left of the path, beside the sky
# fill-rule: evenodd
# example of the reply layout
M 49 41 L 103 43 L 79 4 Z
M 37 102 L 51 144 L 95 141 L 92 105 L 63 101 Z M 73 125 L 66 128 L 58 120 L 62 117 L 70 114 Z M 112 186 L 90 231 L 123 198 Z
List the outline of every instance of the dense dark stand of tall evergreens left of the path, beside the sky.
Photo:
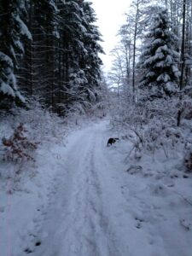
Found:
M 1 2 L 1 0 L 0 0 Z M 100 89 L 100 33 L 91 3 L 79 0 L 22 0 L 32 41 L 16 71 L 25 95 L 66 113 L 76 102 L 96 101 Z M 44 10 L 44 11 L 42 11 Z M 4 41 L 4 40 L 3 40 Z M 11 60 L 12 61 L 12 60 Z M 13 64 L 14 65 L 14 64 Z M 81 107 L 81 106 L 80 106 Z

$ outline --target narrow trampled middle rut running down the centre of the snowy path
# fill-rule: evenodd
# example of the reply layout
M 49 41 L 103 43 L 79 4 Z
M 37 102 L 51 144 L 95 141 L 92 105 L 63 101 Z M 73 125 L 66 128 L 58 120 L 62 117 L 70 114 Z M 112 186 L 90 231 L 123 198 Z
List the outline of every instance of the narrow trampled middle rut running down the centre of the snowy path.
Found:
M 105 230 L 103 230 L 103 227 L 101 226 L 102 190 L 96 175 L 94 162 L 96 137 L 94 137 L 94 141 L 91 145 L 90 157 L 87 161 L 85 172 L 88 183 L 86 192 L 87 234 L 84 236 L 84 241 L 87 246 L 83 247 L 81 255 L 100 256 L 104 254 L 108 256 L 108 247 L 106 247 L 107 236 Z

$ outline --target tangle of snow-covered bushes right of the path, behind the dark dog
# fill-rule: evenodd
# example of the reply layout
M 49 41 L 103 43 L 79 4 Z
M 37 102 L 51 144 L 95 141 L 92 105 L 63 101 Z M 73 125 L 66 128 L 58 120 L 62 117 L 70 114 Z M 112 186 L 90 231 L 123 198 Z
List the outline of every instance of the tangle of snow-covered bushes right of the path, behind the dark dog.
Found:
M 128 136 L 132 148 L 126 160 L 132 157 L 141 160 L 143 154 L 151 154 L 153 158 L 164 155 L 165 159 L 180 162 L 187 157 L 185 166 L 190 168 L 190 154 L 184 155 L 186 144 L 192 141 L 191 109 L 191 99 L 187 96 L 182 101 L 172 97 L 134 104 L 122 99 L 119 109 L 113 111 L 111 125 L 121 134 L 126 132 L 133 137 Z

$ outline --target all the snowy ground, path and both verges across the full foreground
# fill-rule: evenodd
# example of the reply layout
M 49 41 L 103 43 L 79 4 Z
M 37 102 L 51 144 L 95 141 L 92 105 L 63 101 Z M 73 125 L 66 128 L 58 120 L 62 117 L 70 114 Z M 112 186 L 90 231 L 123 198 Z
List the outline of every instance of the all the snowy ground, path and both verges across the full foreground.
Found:
M 192 255 L 192 177 L 150 156 L 131 166 L 111 136 L 108 121 L 74 131 L 39 149 L 20 191 L 0 189 L 1 256 Z

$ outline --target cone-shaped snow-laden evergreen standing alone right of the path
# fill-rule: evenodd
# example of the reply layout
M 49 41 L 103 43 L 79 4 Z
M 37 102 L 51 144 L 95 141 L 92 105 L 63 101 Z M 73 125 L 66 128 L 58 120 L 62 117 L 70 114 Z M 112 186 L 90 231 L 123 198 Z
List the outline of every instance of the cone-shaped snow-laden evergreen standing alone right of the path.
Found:
M 140 87 L 151 90 L 155 96 L 168 95 L 178 88 L 177 37 L 170 29 L 166 9 L 160 9 L 146 36 L 139 67 L 143 69 Z

